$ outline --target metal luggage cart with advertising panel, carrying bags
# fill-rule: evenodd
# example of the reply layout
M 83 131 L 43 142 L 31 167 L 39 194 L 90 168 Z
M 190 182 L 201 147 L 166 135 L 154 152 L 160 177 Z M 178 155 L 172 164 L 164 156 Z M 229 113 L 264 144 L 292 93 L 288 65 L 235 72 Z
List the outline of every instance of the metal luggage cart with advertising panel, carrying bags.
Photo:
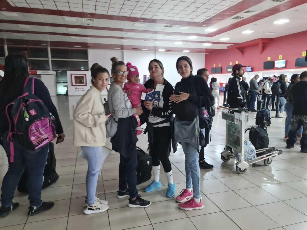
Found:
M 263 161 L 264 165 L 268 166 L 272 163 L 274 156 L 282 154 L 282 150 L 275 147 L 262 148 L 256 150 L 257 157 L 255 159 L 244 161 L 245 123 L 249 122 L 249 115 L 245 114 L 246 109 L 244 107 L 231 109 L 220 106 L 220 108 L 223 109 L 222 119 L 226 120 L 225 150 L 221 152 L 221 159 L 227 162 L 231 158 L 235 158 L 235 155 L 229 150 L 230 148 L 238 151 L 241 154 L 241 159 L 235 164 L 235 171 L 238 174 L 245 173 L 249 165 L 255 165 L 260 161 Z

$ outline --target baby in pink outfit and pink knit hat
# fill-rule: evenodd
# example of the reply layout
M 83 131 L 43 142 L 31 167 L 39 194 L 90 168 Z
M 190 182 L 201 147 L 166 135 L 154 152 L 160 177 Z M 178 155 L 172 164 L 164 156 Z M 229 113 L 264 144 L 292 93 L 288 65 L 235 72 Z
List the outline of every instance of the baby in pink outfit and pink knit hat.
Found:
M 128 82 L 125 83 L 123 90 L 127 93 L 128 98 L 132 104 L 132 108 L 136 108 L 141 106 L 142 93 L 148 93 L 151 91 L 151 89 L 146 89 L 145 86 L 138 82 L 139 73 L 136 66 L 131 65 L 130 62 L 128 62 L 126 66 L 129 74 L 127 75 Z M 138 136 L 143 132 L 142 128 L 140 127 L 141 121 L 140 117 L 136 113 L 134 113 L 133 116 L 138 121 L 138 128 L 135 131 L 136 135 Z

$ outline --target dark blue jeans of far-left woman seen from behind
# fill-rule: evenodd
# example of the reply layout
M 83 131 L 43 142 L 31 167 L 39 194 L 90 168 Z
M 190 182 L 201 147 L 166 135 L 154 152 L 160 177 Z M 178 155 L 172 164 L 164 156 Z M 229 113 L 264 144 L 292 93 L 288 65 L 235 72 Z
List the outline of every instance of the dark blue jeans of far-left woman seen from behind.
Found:
M 41 206 L 41 187 L 43 185 L 43 173 L 48 157 L 49 145 L 44 146 L 38 152 L 29 152 L 14 144 L 14 162 L 10 162 L 10 143 L 3 135 L 3 148 L 9 160 L 9 170 L 6 172 L 2 182 L 1 204 L 8 207 L 13 204 L 14 192 L 19 179 L 26 168 L 28 174 L 27 186 L 29 190 L 29 201 L 33 207 Z

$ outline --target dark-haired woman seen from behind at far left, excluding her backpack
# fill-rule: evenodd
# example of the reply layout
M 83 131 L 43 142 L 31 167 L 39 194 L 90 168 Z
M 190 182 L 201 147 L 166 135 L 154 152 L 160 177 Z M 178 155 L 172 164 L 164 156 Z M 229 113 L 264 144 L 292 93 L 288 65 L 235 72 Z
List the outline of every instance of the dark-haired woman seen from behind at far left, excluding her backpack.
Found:
M 14 203 L 13 197 L 21 174 L 26 169 L 28 174 L 29 212 L 28 215 L 51 209 L 53 202 L 41 201 L 41 188 L 43 185 L 43 173 L 47 162 L 49 145 L 45 145 L 37 152 L 29 152 L 22 148 L 13 137 L 13 146 L 7 140 L 9 121 L 6 116 L 6 106 L 23 93 L 26 79 L 29 77 L 28 60 L 21 54 L 10 54 L 5 58 L 5 75 L 0 84 L 0 137 L 3 147 L 9 159 L 9 170 L 2 182 L 0 217 L 7 216 L 19 204 Z M 56 107 L 53 105 L 50 93 L 44 83 L 34 79 L 34 94 L 49 109 L 56 119 L 56 133 L 64 140 L 63 128 Z M 9 113 L 10 111 L 8 111 Z M 14 155 L 11 156 L 11 148 L 14 147 Z M 12 159 L 13 158 L 13 159 Z

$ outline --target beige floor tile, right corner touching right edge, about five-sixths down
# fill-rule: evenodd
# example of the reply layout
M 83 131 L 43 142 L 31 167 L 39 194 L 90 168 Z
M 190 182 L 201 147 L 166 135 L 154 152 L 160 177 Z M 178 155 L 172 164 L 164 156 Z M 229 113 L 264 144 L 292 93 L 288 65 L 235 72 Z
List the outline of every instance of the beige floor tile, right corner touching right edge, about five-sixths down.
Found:
M 285 184 L 266 185 L 261 186 L 261 188 L 280 200 L 290 200 L 306 196 Z

